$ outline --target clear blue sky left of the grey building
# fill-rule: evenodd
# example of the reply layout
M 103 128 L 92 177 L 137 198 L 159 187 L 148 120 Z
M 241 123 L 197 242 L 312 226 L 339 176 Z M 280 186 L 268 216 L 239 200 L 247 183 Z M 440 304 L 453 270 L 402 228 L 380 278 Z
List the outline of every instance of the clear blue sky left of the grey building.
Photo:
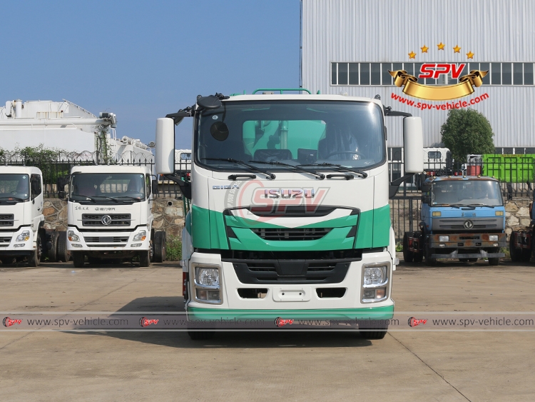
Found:
M 299 0 L 6 1 L 0 104 L 68 99 L 148 143 L 198 94 L 299 86 L 299 18 Z M 177 133 L 190 148 L 190 119 Z

